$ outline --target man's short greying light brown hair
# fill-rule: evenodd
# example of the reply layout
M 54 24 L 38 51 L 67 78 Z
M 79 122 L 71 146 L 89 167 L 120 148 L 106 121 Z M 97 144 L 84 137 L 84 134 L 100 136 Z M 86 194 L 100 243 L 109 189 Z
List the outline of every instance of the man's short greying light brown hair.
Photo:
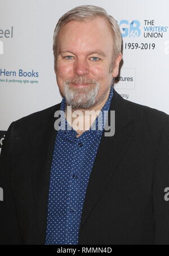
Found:
M 57 35 L 60 29 L 69 21 L 83 21 L 86 19 L 94 19 L 96 16 L 103 17 L 108 24 L 110 25 L 110 29 L 112 30 L 113 35 L 113 60 L 117 58 L 117 56 L 122 51 L 122 35 L 121 30 L 117 21 L 99 6 L 92 6 L 92 5 L 82 5 L 73 8 L 72 10 L 66 12 L 63 16 L 60 17 L 59 21 L 56 24 L 54 30 L 54 37 L 53 37 L 53 51 L 54 51 L 54 63 L 56 65 L 57 59 Z

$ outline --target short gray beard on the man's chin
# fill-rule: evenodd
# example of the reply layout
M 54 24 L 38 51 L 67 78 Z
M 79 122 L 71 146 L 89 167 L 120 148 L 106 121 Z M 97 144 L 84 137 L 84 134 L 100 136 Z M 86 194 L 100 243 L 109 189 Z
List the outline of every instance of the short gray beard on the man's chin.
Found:
M 99 82 L 93 81 L 94 84 L 91 85 L 91 88 L 89 89 L 83 87 L 83 88 L 77 88 L 73 89 L 73 87 L 70 87 L 69 82 L 64 82 L 64 94 L 66 99 L 66 104 L 68 106 L 72 106 L 73 109 L 88 109 L 93 107 L 96 104 L 96 96 L 99 91 Z

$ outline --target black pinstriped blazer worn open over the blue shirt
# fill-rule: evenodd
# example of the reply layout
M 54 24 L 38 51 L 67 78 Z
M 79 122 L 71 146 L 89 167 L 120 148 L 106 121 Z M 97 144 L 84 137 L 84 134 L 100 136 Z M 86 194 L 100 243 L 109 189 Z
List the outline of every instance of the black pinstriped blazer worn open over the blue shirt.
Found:
M 45 244 L 59 109 L 54 105 L 8 128 L 0 157 L 0 244 Z M 79 244 L 169 244 L 169 116 L 124 100 L 115 90 L 110 109 L 115 134 L 101 138 Z

